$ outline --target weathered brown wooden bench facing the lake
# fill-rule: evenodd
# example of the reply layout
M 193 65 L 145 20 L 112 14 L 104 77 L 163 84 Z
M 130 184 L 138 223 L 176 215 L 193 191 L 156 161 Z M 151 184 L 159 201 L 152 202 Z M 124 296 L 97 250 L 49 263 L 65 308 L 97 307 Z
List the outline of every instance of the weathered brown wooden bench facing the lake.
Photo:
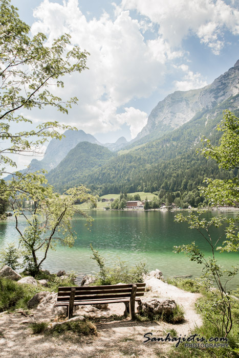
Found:
M 59 287 L 56 306 L 67 306 L 68 318 L 73 316 L 76 305 L 90 305 L 102 303 L 125 304 L 124 315 L 128 313 L 135 318 L 135 301 L 144 295 L 145 283 L 131 283 L 108 286 Z

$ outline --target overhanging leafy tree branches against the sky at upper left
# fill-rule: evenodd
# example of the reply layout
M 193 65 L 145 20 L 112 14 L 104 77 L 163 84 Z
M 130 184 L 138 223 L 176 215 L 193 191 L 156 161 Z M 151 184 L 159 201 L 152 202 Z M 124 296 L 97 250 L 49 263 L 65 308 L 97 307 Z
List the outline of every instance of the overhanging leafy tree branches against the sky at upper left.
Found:
M 62 102 L 50 92 L 49 86 L 63 87 L 64 75 L 86 69 L 88 52 L 73 47 L 68 34 L 55 39 L 51 47 L 46 46 L 47 37 L 42 33 L 30 38 L 30 27 L 19 19 L 10 0 L 1 1 L 0 25 L 0 139 L 7 143 L 7 147 L 0 149 L 0 164 L 16 167 L 6 154 L 39 153 L 49 138 L 62 137 L 57 128 L 71 127 L 46 122 L 31 130 L 15 132 L 11 130 L 12 124 L 32 124 L 21 114 L 23 109 L 52 106 L 67 114 L 77 98 Z M 0 173 L 6 170 L 1 168 Z

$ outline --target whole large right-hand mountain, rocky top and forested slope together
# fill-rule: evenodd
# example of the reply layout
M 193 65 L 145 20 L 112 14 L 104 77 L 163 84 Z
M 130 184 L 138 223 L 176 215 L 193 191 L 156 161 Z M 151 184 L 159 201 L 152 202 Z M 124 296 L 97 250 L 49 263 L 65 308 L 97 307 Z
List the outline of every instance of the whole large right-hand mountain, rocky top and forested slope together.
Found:
M 223 110 L 229 109 L 238 117 L 238 79 L 237 61 L 233 68 L 211 85 L 167 96 L 167 100 L 170 99 L 169 108 L 165 104 L 166 99 L 159 103 L 162 106 L 163 102 L 165 113 L 170 113 L 171 119 L 168 117 L 167 121 L 166 114 L 158 111 L 158 117 L 153 120 L 153 115 L 157 113 L 156 109 L 153 110 L 145 126 L 148 134 L 121 150 L 118 153 L 121 155 L 107 158 L 100 169 L 95 166 L 90 172 L 81 172 L 80 183 L 101 194 L 165 190 L 180 192 L 181 195 L 181 192 L 197 190 L 205 176 L 229 178 L 236 175 L 220 170 L 214 161 L 206 161 L 204 157 L 196 155 L 195 150 L 200 147 L 202 136 L 210 138 L 214 144 L 218 143 L 221 132 L 216 130 L 216 126 L 223 119 Z M 173 120 L 172 99 L 175 100 L 178 95 L 183 98 L 183 103 L 179 101 L 176 105 L 174 101 Z M 185 107 L 186 98 L 190 100 Z M 182 107 L 185 107 L 184 111 Z M 181 111 L 180 116 L 177 116 L 176 108 Z M 187 119 L 188 113 L 195 115 L 182 124 L 179 118 Z M 173 126 L 179 127 L 173 129 Z M 164 132 L 160 132 L 160 128 Z M 77 184 L 79 179 L 76 176 L 74 185 Z M 58 189 L 62 191 L 60 181 Z

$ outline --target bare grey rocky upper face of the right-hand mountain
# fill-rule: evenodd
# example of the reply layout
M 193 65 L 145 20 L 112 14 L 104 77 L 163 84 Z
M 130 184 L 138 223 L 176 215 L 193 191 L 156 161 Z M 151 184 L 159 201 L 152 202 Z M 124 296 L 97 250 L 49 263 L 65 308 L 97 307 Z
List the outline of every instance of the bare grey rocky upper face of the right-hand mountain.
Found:
M 202 110 L 216 108 L 239 93 L 239 60 L 211 84 L 190 91 L 176 91 L 168 95 L 151 111 L 147 124 L 131 142 L 131 146 L 160 138 L 190 121 Z

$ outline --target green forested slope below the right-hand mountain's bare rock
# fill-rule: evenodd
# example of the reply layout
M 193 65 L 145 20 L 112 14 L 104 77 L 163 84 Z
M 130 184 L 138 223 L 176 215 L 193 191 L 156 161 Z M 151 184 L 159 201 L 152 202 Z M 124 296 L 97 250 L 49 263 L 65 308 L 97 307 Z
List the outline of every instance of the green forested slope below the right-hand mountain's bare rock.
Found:
M 203 135 L 214 143 L 218 142 L 221 133 L 215 128 L 223 118 L 223 110 L 229 108 L 238 116 L 238 107 L 239 95 L 224 101 L 216 109 L 203 111 L 156 141 L 108 159 L 100 169 L 81 172 L 68 185 L 82 183 L 100 194 L 107 194 L 158 191 L 166 181 L 169 183 L 167 190 L 177 191 L 181 188 L 186 190 L 188 185 L 196 188 L 205 176 L 228 177 L 229 172 L 220 171 L 216 163 L 207 162 L 196 155 L 195 150 L 200 147 Z M 62 190 L 60 181 L 57 189 Z

